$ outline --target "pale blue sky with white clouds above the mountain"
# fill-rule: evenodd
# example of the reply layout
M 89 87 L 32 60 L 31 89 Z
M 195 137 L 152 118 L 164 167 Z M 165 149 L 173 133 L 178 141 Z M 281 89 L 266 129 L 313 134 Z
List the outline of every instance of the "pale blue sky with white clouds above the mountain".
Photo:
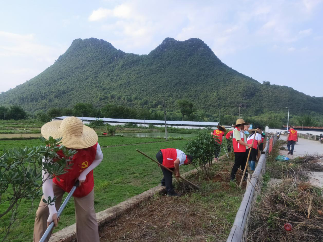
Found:
M 0 6 L 0 92 L 44 71 L 76 38 L 96 37 L 125 52 L 148 54 L 166 37 L 195 37 L 259 82 L 323 96 L 323 0 L 1 1 Z

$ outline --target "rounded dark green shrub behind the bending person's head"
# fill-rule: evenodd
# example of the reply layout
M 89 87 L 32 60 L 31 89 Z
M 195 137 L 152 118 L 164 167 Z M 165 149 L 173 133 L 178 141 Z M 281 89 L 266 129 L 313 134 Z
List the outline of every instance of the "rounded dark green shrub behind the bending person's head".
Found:
M 186 154 L 193 156 L 193 166 L 202 170 L 207 176 L 210 175 L 212 169 L 214 154 L 220 151 L 220 145 L 216 140 L 209 131 L 202 130 L 195 139 L 185 145 Z

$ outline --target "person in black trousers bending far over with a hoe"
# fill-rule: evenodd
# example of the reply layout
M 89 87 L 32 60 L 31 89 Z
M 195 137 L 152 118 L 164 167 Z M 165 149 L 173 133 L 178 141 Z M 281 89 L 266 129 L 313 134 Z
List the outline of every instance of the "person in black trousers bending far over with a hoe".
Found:
M 163 164 L 172 171 L 175 170 L 176 176 L 180 176 L 179 166 L 189 165 L 193 161 L 193 156 L 185 155 L 185 153 L 179 149 L 161 149 L 158 151 L 156 158 L 159 163 Z M 173 173 L 162 168 L 161 171 L 164 177 L 161 179 L 161 186 L 166 186 L 167 195 L 169 196 L 181 196 L 174 191 L 173 188 Z

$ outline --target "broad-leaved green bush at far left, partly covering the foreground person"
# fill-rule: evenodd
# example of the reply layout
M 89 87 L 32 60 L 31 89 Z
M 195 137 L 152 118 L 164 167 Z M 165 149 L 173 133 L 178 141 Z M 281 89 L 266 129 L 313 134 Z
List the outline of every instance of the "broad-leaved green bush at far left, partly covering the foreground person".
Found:
M 40 139 L 44 143 L 41 146 L 13 148 L 0 153 L 0 204 L 6 204 L 5 209 L 0 212 L 2 241 L 16 222 L 20 204 L 26 200 L 31 201 L 30 212 L 35 199 L 42 196 L 41 187 L 44 183 L 42 170 L 50 175 L 62 175 L 71 166 L 67 165 L 70 160 L 64 157 L 76 154 L 75 150 L 59 146 L 62 138 Z M 64 156 L 58 156 L 58 151 L 62 151 Z M 53 159 L 55 162 L 48 162 Z M 47 204 L 52 204 L 55 200 L 56 197 L 48 197 L 47 201 L 43 199 Z

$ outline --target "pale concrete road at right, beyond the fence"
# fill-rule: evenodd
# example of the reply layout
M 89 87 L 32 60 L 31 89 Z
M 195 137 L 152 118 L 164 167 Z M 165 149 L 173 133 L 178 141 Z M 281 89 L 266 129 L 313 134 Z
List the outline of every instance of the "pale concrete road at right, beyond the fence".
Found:
M 286 140 L 286 136 L 280 136 L 280 139 Z M 287 149 L 287 145 L 285 145 Z M 294 156 L 287 155 L 288 151 L 281 150 L 279 154 L 285 155 L 288 158 L 292 159 L 297 156 L 304 156 L 304 155 L 322 155 L 323 154 L 323 144 L 318 141 L 309 140 L 309 139 L 302 139 L 298 138 L 298 142 L 295 144 L 294 147 Z M 323 161 L 322 161 L 323 163 Z M 323 172 L 312 171 L 310 173 L 309 182 L 315 186 L 323 187 Z

